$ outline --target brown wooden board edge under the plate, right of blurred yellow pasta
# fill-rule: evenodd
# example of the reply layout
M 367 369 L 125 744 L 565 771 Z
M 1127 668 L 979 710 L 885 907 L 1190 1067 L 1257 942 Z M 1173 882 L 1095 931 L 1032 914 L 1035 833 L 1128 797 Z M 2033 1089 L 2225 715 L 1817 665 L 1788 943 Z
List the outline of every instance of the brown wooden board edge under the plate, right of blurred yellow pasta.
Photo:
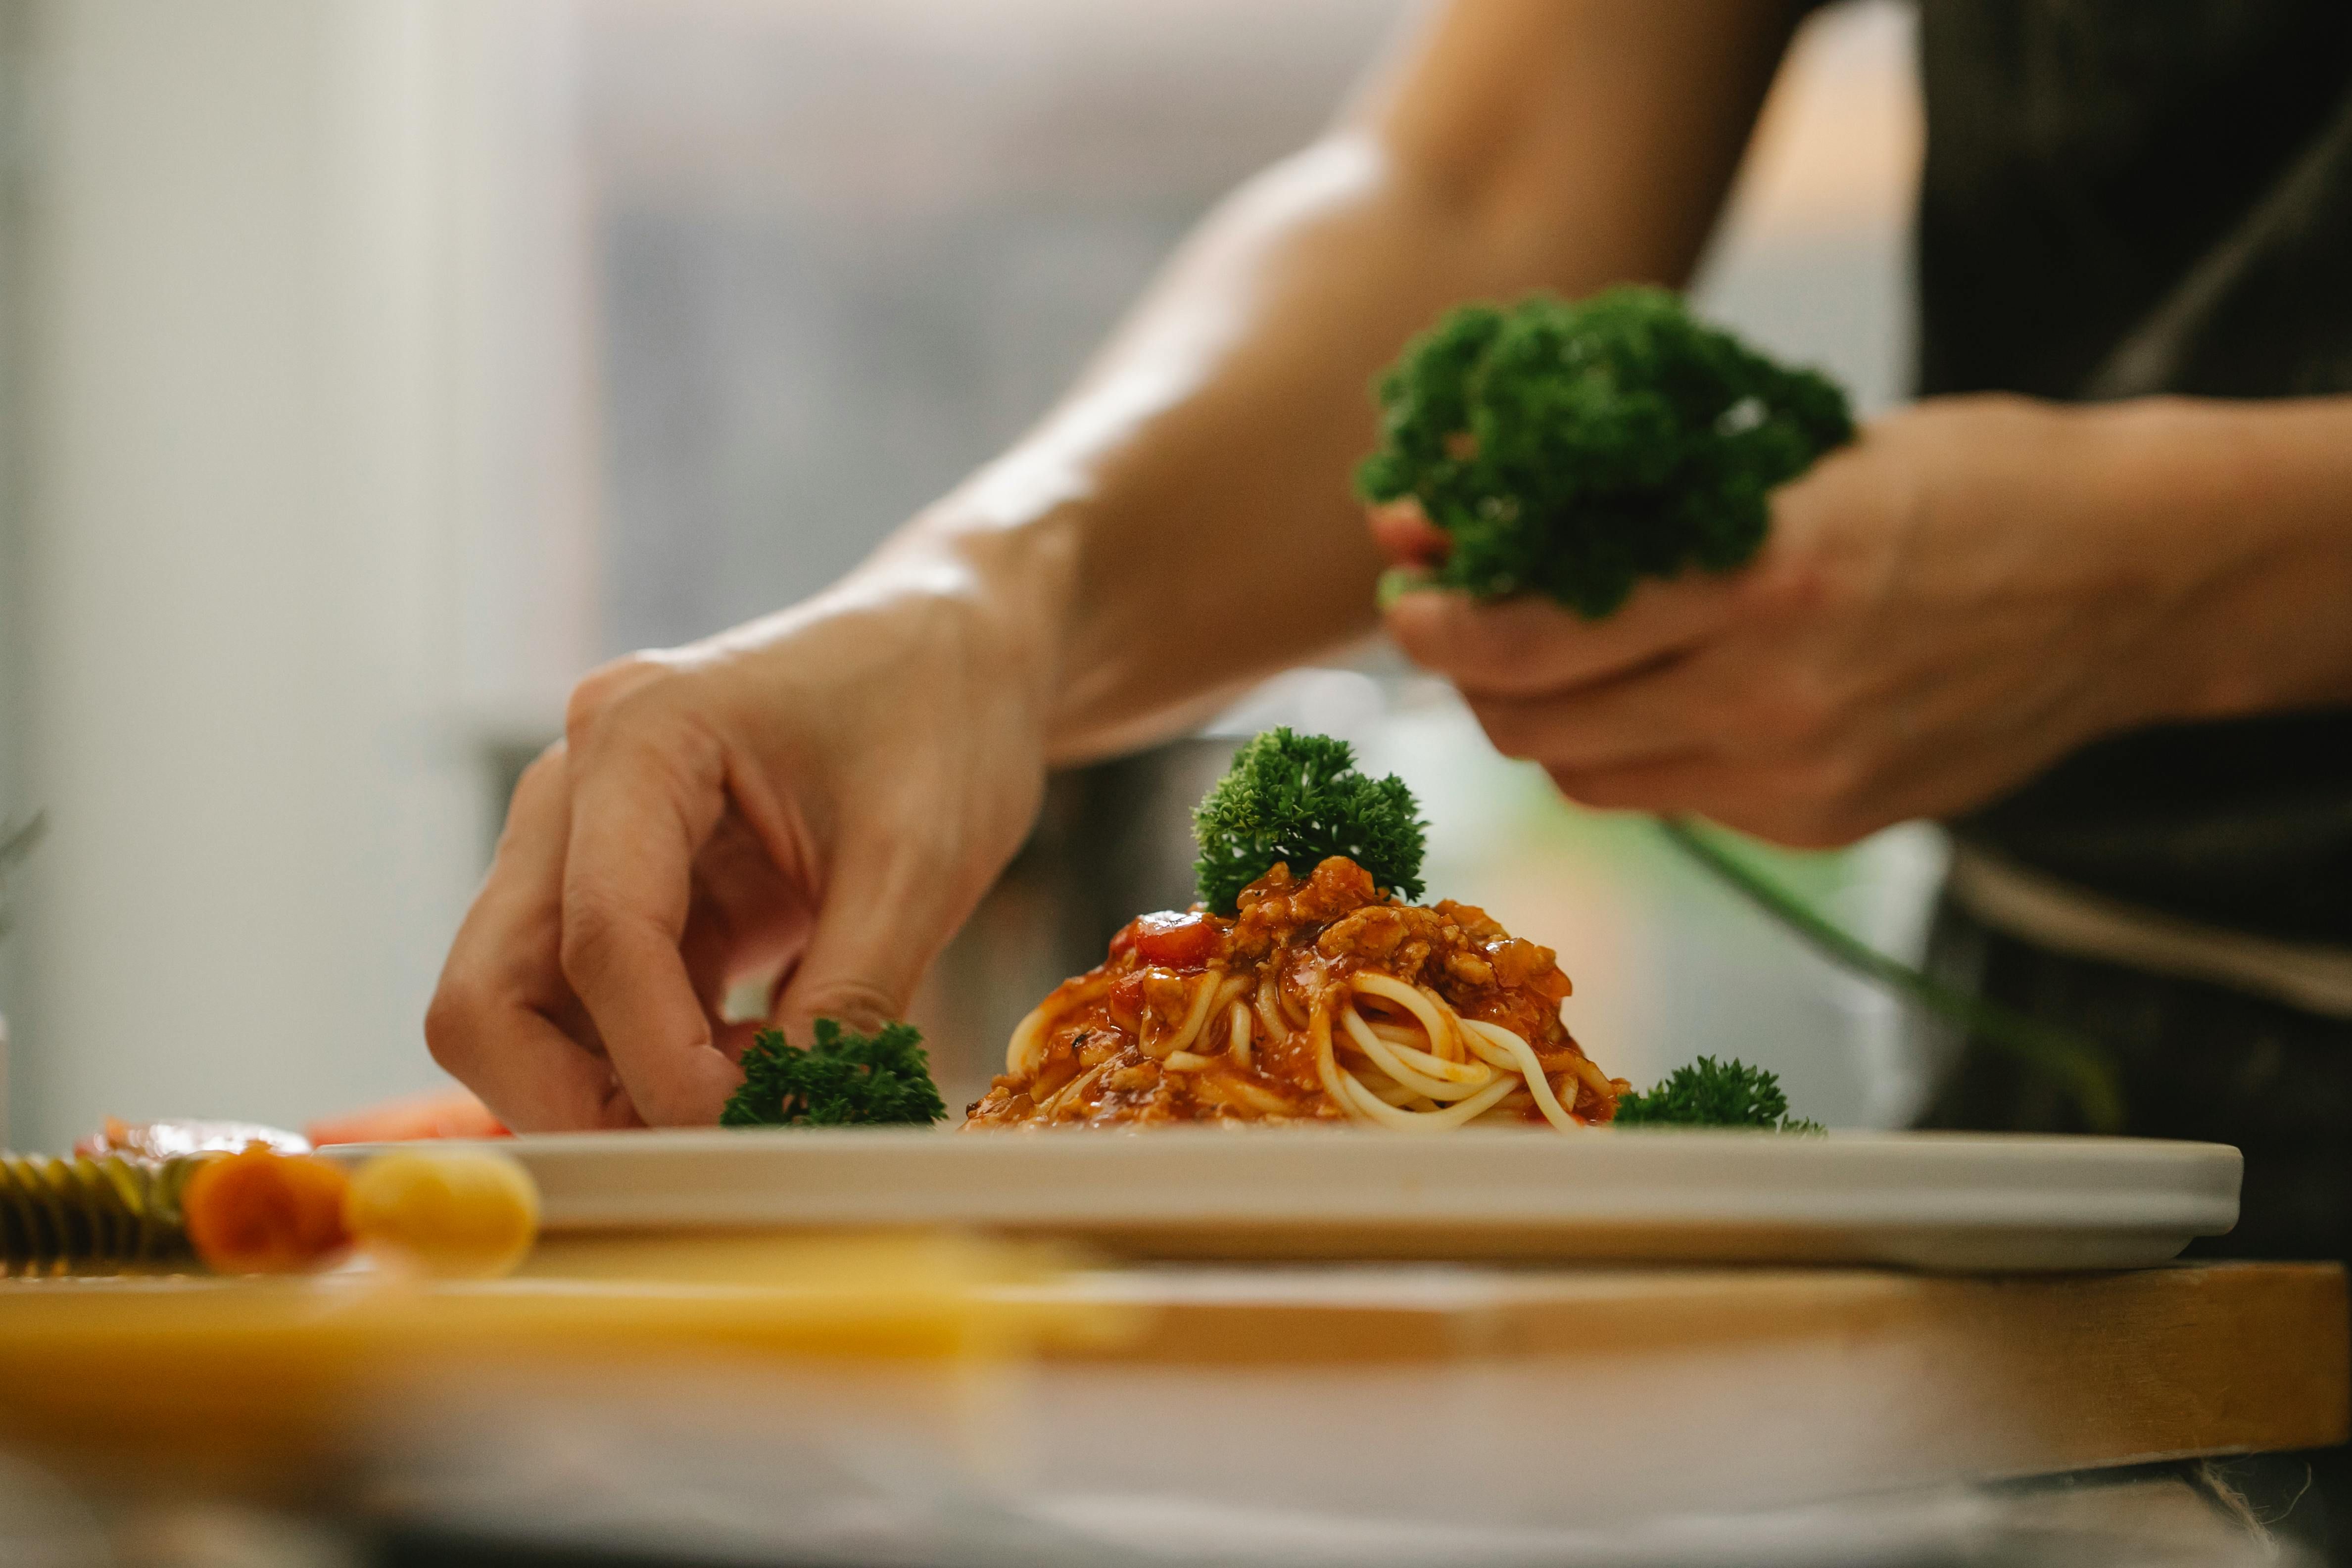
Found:
M 1879 1269 L 1155 1269 L 1054 1286 L 1155 1312 L 1131 1345 L 1061 1359 L 1164 1366 L 1771 1359 L 1835 1347 L 1938 1368 L 1992 1472 L 2347 1439 L 2345 1274 L 2213 1262 L 2122 1274 Z M 1957 1410 L 1947 1410 L 1957 1415 Z M 2027 1418 L 2027 1420 L 2018 1420 Z

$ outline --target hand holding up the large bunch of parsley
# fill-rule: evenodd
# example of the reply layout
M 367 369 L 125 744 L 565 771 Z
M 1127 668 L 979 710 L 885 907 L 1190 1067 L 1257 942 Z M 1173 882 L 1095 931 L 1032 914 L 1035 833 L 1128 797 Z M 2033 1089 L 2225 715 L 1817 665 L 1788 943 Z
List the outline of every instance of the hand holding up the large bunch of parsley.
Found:
M 1644 583 L 1599 623 L 1406 592 L 1388 630 L 1590 806 L 1809 846 L 1950 816 L 2183 698 L 2169 632 L 2223 564 L 2100 489 L 2093 418 L 1922 402 L 1783 487 L 1738 574 Z M 1442 555 L 1418 512 L 1371 522 L 1399 562 Z

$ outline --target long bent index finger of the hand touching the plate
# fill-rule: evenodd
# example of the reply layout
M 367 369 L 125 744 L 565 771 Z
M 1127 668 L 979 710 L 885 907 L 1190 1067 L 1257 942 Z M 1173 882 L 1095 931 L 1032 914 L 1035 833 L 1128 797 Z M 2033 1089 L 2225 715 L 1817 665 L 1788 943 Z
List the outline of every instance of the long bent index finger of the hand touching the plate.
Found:
M 694 851 L 727 804 L 724 759 L 699 729 L 607 717 L 574 776 L 564 976 L 647 1121 L 713 1121 L 741 1074 L 713 1039 L 680 943 Z

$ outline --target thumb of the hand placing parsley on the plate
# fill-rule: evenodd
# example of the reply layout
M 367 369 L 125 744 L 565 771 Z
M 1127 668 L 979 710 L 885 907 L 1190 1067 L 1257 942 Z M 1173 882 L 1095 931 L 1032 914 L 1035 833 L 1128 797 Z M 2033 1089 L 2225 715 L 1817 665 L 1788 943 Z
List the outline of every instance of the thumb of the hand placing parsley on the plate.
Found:
M 842 853 L 809 947 L 776 997 L 776 1027 L 807 1041 L 818 1018 L 866 1032 L 903 1018 L 931 954 L 969 912 L 946 907 L 938 884 L 896 846 Z

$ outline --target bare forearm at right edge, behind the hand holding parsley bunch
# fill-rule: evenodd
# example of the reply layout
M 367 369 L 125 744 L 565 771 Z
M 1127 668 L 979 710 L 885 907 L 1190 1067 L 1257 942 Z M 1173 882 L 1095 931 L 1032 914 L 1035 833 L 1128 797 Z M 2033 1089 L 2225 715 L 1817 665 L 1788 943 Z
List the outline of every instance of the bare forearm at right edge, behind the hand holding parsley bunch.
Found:
M 2352 703 L 2352 397 L 2084 409 L 2079 484 L 2176 635 L 2119 670 L 2147 722 Z

